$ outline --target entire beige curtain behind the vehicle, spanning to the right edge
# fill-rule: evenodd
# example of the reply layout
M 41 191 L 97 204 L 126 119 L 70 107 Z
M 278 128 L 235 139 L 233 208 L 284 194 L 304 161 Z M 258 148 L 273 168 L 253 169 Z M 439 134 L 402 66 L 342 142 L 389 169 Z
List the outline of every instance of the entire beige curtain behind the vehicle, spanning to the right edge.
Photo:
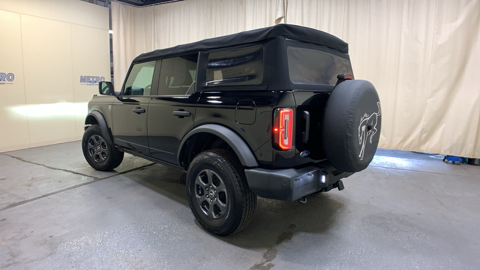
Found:
M 113 2 L 115 85 L 142 52 L 277 23 L 349 43 L 355 77 L 380 94 L 380 147 L 480 158 L 480 0 Z

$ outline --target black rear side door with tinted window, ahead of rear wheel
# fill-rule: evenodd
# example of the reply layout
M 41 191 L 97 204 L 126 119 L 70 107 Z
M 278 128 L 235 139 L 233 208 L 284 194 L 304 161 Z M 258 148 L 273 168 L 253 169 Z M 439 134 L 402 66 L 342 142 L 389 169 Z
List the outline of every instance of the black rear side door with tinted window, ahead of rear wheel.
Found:
M 147 112 L 153 158 L 178 164 L 181 140 L 192 128 L 200 93 L 195 92 L 198 53 L 161 60 L 158 92 Z

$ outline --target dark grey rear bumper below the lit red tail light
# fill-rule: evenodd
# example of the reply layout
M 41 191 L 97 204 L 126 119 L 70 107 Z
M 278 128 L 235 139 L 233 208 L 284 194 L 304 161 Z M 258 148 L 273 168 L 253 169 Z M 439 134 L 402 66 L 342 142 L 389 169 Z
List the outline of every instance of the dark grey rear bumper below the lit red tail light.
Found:
M 353 172 L 336 170 L 329 162 L 301 169 L 245 169 L 245 176 L 253 193 L 288 202 L 322 189 L 328 191 L 338 180 L 352 174 Z

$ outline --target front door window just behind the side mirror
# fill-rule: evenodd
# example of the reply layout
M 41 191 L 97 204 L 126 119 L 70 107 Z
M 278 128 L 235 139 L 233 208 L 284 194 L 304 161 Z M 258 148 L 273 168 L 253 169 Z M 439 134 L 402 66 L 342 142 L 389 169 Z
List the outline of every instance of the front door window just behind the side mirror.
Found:
M 134 64 L 125 83 L 124 96 L 148 96 L 152 90 L 156 61 Z

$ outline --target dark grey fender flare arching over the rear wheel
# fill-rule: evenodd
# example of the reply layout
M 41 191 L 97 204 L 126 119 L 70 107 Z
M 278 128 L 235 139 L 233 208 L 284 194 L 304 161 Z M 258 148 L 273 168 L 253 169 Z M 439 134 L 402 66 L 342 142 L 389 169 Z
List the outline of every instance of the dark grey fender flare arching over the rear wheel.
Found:
M 217 124 L 204 124 L 192 129 L 180 143 L 179 152 L 177 154 L 177 160 L 180 163 L 180 153 L 182 153 L 183 147 L 186 141 L 192 136 L 197 133 L 211 133 L 213 135 L 217 135 L 218 137 L 222 138 L 224 141 L 228 143 L 230 147 L 232 147 L 235 154 L 239 158 L 241 164 L 245 167 L 257 167 L 258 162 L 255 159 L 255 156 L 252 153 L 252 150 L 248 145 L 243 141 L 243 139 L 233 132 L 232 130 Z

